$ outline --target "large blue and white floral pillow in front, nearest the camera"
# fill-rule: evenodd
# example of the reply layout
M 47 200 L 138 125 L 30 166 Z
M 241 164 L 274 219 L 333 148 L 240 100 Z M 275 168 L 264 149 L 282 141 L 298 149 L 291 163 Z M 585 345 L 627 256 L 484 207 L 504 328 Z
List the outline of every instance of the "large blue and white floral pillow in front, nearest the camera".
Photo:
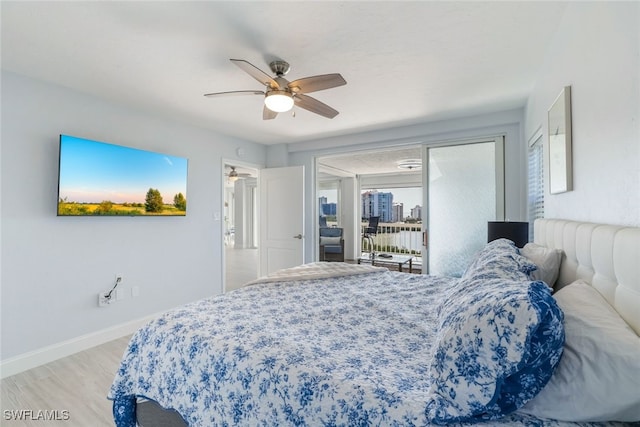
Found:
M 563 314 L 544 282 L 461 280 L 438 319 L 427 416 L 498 419 L 547 384 L 564 345 Z

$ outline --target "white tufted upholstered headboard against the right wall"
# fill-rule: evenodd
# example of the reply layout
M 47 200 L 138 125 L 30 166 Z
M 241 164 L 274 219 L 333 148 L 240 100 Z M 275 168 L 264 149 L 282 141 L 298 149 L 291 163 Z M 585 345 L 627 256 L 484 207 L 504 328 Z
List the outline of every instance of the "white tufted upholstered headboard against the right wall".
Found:
M 583 279 L 640 335 L 640 228 L 537 219 L 533 233 L 565 253 L 556 290 Z

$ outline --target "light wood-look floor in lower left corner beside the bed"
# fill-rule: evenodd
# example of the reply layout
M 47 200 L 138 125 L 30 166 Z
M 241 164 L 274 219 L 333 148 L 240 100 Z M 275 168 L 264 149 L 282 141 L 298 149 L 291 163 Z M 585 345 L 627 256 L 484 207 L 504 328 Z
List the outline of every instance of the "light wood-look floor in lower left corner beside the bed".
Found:
M 107 394 L 130 338 L 122 337 L 3 379 L 0 425 L 113 426 Z M 48 411 L 47 416 L 53 414 L 54 419 L 38 420 L 38 411 Z M 18 414 L 30 419 L 13 419 Z

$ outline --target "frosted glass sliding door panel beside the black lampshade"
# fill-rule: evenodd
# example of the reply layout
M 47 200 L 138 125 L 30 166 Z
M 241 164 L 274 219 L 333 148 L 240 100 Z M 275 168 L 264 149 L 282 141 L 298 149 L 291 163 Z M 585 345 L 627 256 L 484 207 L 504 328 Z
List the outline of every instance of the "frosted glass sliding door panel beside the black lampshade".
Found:
M 487 241 L 487 221 L 504 218 L 503 138 L 425 146 L 423 269 L 460 276 Z

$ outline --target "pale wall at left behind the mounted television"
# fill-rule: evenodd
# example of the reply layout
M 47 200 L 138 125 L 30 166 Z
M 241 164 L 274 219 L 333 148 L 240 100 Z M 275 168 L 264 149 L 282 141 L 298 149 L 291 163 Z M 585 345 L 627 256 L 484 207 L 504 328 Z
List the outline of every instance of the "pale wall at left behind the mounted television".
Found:
M 188 158 L 187 216 L 57 217 L 60 133 Z M 1 136 L 3 364 L 222 292 L 222 159 L 264 146 L 9 72 Z M 99 308 L 115 274 L 125 299 Z

